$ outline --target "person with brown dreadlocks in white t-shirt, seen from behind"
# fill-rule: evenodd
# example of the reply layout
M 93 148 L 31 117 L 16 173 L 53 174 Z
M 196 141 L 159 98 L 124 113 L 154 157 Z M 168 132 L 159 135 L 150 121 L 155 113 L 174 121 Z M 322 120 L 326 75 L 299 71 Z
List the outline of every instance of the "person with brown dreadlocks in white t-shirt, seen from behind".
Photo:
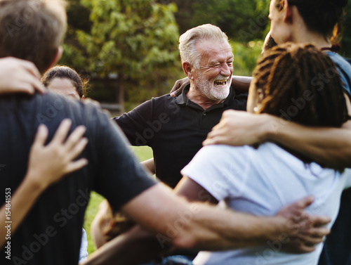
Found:
M 311 82 L 328 72 L 328 82 Z M 314 127 L 340 127 L 349 119 L 343 86 L 331 58 L 312 44 L 283 44 L 265 53 L 253 72 L 247 110 L 282 116 Z M 272 124 L 274 126 L 274 124 Z M 206 146 L 182 171 L 176 192 L 189 200 L 223 201 L 239 212 L 272 216 L 289 203 L 314 195 L 307 212 L 331 217 L 331 228 L 350 169 L 324 167 L 274 143 L 260 146 Z M 317 264 L 323 244 L 307 254 L 284 252 L 291 240 L 226 252 L 199 252 L 200 264 Z

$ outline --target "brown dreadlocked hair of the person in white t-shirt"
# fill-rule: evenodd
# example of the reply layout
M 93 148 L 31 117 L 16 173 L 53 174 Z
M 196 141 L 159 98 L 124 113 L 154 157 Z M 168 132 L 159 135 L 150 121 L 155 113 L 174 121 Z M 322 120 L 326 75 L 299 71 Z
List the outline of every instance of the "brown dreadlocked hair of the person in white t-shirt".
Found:
M 263 91 L 261 113 L 316 127 L 340 127 L 348 119 L 336 65 L 312 44 L 272 48 L 253 77 Z

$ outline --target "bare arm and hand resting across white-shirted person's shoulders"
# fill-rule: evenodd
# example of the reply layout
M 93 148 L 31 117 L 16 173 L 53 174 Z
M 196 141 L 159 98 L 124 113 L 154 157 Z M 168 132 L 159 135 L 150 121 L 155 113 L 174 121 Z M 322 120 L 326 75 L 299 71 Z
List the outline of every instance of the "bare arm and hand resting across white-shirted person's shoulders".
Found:
M 345 98 L 350 115 L 350 100 Z M 351 167 L 351 121 L 341 128 L 315 128 L 272 115 L 227 110 L 204 145 L 243 146 L 263 141 L 280 143 L 331 167 Z

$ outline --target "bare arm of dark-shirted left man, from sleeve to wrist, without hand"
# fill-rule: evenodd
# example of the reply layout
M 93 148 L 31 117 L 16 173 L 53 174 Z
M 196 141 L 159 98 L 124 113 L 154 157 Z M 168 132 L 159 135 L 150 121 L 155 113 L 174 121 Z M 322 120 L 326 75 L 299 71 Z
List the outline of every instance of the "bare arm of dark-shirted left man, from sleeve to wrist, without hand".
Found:
M 282 231 L 289 232 L 279 218 L 257 217 L 204 203 L 189 203 L 161 183 L 145 190 L 122 209 L 136 223 L 180 249 L 249 247 L 276 238 Z

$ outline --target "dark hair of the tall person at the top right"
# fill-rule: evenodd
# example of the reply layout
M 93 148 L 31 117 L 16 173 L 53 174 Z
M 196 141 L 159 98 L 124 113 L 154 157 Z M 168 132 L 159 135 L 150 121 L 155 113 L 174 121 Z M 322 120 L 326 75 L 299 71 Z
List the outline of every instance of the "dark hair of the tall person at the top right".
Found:
M 282 8 L 283 0 L 277 1 Z M 343 21 L 343 8 L 348 0 L 288 0 L 290 6 L 296 6 L 307 28 L 322 34 L 325 39 L 337 37 L 338 29 Z M 336 30 L 336 31 L 335 31 Z

